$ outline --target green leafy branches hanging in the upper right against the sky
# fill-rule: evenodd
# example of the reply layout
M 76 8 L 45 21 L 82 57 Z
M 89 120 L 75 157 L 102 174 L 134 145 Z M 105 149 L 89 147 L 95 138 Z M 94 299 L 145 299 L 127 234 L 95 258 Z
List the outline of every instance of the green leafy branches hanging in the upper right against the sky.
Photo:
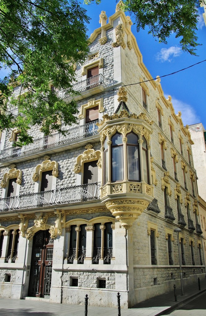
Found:
M 93 1 L 85 0 L 87 4 Z M 165 44 L 174 33 L 182 50 L 196 55 L 196 47 L 200 45 L 196 36 L 199 0 L 123 0 L 121 3 L 121 8 L 134 16 L 138 32 L 148 26 L 148 33 Z

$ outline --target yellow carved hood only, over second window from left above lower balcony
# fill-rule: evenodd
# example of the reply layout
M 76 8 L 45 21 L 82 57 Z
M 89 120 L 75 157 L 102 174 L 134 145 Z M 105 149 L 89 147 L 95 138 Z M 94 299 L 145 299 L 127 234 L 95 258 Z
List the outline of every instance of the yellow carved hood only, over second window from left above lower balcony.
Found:
M 37 165 L 35 173 L 33 173 L 32 180 L 35 182 L 39 179 L 40 173 L 44 171 L 52 170 L 53 177 L 57 178 L 59 176 L 58 162 L 49 160 L 49 156 L 44 156 L 44 161 L 41 165 Z

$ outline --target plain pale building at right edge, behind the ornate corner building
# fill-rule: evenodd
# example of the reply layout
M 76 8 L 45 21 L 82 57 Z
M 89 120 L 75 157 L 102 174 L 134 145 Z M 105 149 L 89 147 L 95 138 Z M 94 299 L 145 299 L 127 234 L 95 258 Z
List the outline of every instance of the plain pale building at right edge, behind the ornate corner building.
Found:
M 194 142 L 192 156 L 197 174 L 198 193 L 206 201 L 206 131 L 202 123 L 190 125 L 189 131 Z

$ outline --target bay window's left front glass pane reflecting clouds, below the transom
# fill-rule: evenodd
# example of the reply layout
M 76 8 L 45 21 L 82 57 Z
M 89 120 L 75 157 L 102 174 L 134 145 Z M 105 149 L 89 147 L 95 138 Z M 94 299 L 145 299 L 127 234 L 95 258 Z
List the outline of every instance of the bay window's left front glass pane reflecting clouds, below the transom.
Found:
M 112 182 L 123 180 L 123 146 L 112 148 Z

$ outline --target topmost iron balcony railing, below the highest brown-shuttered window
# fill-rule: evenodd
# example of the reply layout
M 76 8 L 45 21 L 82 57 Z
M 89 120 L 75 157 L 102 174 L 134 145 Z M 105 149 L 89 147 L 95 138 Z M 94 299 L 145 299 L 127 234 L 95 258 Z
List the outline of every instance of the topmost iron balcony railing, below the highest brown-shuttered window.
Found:
M 88 89 L 92 89 L 98 86 L 102 86 L 103 88 L 106 88 L 111 83 L 112 83 L 111 79 L 105 78 L 102 74 L 99 74 L 91 78 L 88 78 L 86 80 L 74 83 L 73 89 L 77 92 L 83 92 L 83 91 L 86 91 Z M 69 95 L 65 95 L 65 93 L 62 91 L 58 91 L 58 95 L 62 99 L 69 97 Z

